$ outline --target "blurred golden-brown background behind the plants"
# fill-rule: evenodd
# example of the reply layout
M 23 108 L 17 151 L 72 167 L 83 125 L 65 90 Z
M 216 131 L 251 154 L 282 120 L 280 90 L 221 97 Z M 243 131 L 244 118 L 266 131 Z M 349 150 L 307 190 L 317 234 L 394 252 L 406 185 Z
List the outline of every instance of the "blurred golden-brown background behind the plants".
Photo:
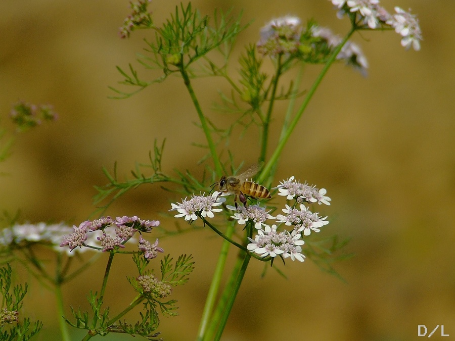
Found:
M 154 1 L 155 22 L 176 4 Z M 321 212 L 330 224 L 321 236 L 351 237 L 346 251 L 355 257 L 335 264 L 346 283 L 310 261 L 287 262 L 287 280 L 275 271 L 261 279 L 262 264 L 252 261 L 223 340 L 413 340 L 422 324 L 429 330 L 444 325 L 446 334 L 455 335 L 455 2 L 381 4 L 389 12 L 394 6 L 412 8 L 423 31 L 422 50 L 404 51 L 393 31 L 356 34 L 353 40 L 370 63 L 369 76 L 342 64 L 332 67 L 289 141 L 276 179 L 295 175 L 328 189 L 332 206 Z M 200 0 L 193 5 L 209 15 L 215 7 L 234 7 L 236 14 L 244 9 L 243 22 L 254 19 L 239 36 L 237 56 L 273 17 L 315 18 L 341 35 L 348 29 L 347 19 L 337 19 L 329 1 Z M 78 224 L 94 211 L 93 186 L 107 182 L 101 167 L 112 171 L 117 161 L 118 173 L 129 176 L 135 161 L 148 161 L 155 138 L 166 138 L 164 171 L 190 169 L 201 176 L 196 161 L 203 152 L 191 143 L 203 142 L 203 135 L 192 124 L 197 115 L 180 79 L 127 100 L 107 98 L 108 86 L 121 80 L 115 66 L 127 67 L 144 47 L 144 32 L 125 40 L 117 36 L 129 14 L 127 1 L 4 0 L 0 12 L 0 123 L 13 129 L 8 114 L 18 100 L 52 104 L 60 115 L 57 122 L 16 138 L 11 158 L 0 165 L 2 210 L 20 209 L 22 221 Z M 317 70 L 307 68 L 305 87 Z M 196 80 L 195 88 L 206 112 L 219 99 L 217 88 L 228 90 L 225 82 L 207 79 Z M 277 135 L 282 117 L 274 122 Z M 234 136 L 232 146 L 237 163 L 256 160 L 257 135 L 240 141 Z M 171 228 L 174 221 L 159 212 L 179 200 L 158 185 L 143 185 L 107 214 L 160 219 Z M 161 319 L 165 339 L 195 339 L 220 244 L 208 229 L 160 241 L 165 252 L 192 253 L 196 261 L 188 284 L 174 289 L 180 316 Z M 106 259 L 103 255 L 64 287 L 66 306 L 86 307 L 85 295 L 99 289 Z M 228 267 L 234 259 L 232 251 Z M 117 285 L 110 283 L 107 291 L 112 314 L 134 296 L 125 279 L 131 265 L 127 259 L 114 264 Z M 58 339 L 53 296 L 36 285 L 29 291 L 25 312 L 45 325 L 34 339 Z

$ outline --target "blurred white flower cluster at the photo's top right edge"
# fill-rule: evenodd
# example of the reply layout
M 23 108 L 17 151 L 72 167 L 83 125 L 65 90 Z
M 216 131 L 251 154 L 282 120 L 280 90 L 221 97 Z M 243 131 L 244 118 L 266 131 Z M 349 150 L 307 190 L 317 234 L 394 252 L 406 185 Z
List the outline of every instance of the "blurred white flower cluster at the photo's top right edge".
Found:
M 420 50 L 422 31 L 416 16 L 410 12 L 395 7 L 396 13 L 390 15 L 379 5 L 379 0 L 331 0 L 331 2 L 338 8 L 339 18 L 348 13 L 358 13 L 362 22 L 370 29 L 391 26 L 402 36 L 401 45 L 406 50 L 411 46 L 416 51 Z

